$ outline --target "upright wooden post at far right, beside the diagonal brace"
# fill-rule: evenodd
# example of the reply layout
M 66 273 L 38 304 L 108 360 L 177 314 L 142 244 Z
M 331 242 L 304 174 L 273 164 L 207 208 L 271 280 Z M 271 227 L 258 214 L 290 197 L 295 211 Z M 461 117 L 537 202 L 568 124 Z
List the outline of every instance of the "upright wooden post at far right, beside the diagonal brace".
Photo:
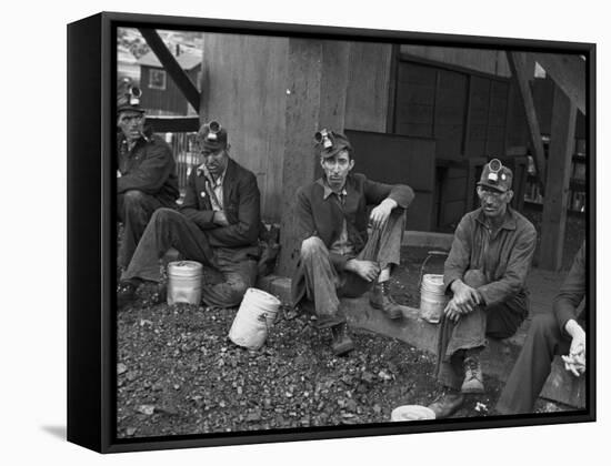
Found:
M 575 121 L 575 102 L 555 85 L 539 261 L 542 269 L 552 271 L 562 266 Z

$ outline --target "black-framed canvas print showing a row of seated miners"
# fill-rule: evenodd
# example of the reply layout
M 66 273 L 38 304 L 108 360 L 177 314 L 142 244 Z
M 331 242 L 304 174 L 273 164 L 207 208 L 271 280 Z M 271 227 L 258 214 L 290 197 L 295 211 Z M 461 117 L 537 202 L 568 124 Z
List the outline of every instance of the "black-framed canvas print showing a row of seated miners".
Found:
M 110 12 L 69 24 L 68 439 L 111 453 L 594 421 L 594 71 L 592 43 Z M 350 213 L 324 245 L 344 257 L 324 270 L 351 336 L 323 325 L 320 275 L 296 293 L 307 186 L 345 212 L 357 192 L 333 191 L 327 141 L 404 222 L 387 266 L 357 255 Z M 499 199 L 511 217 L 489 224 Z M 461 246 L 471 212 L 492 229 L 481 250 Z M 490 252 L 520 229 L 525 246 Z M 493 257 L 484 282 L 460 251 Z M 377 267 L 369 296 L 340 293 L 361 260 Z M 184 275 L 193 261 L 203 272 Z M 474 310 L 483 340 L 442 346 Z

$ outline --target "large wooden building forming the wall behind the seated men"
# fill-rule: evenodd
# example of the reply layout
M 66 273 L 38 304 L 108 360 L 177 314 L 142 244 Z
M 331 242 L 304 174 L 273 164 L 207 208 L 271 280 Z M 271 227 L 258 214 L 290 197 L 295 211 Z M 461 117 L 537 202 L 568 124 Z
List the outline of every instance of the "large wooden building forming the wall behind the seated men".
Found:
M 166 64 L 170 61 L 167 57 Z M 548 126 L 539 125 L 544 110 L 532 92 L 535 61 L 557 78 L 549 158 L 561 163 L 549 164 L 548 172 L 541 132 Z M 263 216 L 282 227 L 280 273 L 291 270 L 298 254 L 294 192 L 319 174 L 317 130 L 331 128 L 353 139 L 355 171 L 414 188 L 409 229 L 452 231 L 474 206 L 475 180 L 491 158 L 513 168 L 517 202 L 523 200 L 527 153 L 541 185 L 553 176 L 563 180 L 578 109 L 584 112 L 584 64 L 578 57 L 204 33 L 201 70 L 201 92 L 187 80 L 181 89 L 199 109 L 199 121 L 219 120 L 228 129 L 232 156 L 257 174 Z M 147 93 L 146 83 L 142 75 Z M 568 95 L 568 103 L 559 95 Z M 559 225 L 567 206 L 563 184 L 551 184 L 547 197 L 562 202 L 543 213 L 544 234 L 553 239 L 547 243 L 550 257 L 563 239 Z

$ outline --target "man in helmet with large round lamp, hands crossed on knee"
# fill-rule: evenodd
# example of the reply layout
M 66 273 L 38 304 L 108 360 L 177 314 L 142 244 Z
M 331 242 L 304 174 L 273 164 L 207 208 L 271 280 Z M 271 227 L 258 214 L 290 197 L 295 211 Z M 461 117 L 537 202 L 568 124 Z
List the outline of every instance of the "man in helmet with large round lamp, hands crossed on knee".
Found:
M 528 315 L 525 280 L 537 231 L 510 207 L 512 172 L 498 159 L 478 182 L 481 206 L 460 221 L 445 260 L 443 282 L 452 297 L 441 317 L 437 376 L 445 393 L 429 407 L 452 415 L 464 394 L 483 393 L 480 353 L 487 336 L 507 338 Z

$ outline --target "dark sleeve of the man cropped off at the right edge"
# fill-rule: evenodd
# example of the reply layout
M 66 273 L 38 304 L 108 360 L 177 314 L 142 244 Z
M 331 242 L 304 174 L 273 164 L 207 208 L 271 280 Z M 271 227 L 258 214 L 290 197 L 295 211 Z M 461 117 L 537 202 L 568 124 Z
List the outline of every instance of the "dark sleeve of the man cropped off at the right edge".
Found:
M 571 318 L 577 320 L 577 307 L 585 297 L 585 243 L 573 260 L 571 270 L 553 300 L 553 313 L 562 332 Z

